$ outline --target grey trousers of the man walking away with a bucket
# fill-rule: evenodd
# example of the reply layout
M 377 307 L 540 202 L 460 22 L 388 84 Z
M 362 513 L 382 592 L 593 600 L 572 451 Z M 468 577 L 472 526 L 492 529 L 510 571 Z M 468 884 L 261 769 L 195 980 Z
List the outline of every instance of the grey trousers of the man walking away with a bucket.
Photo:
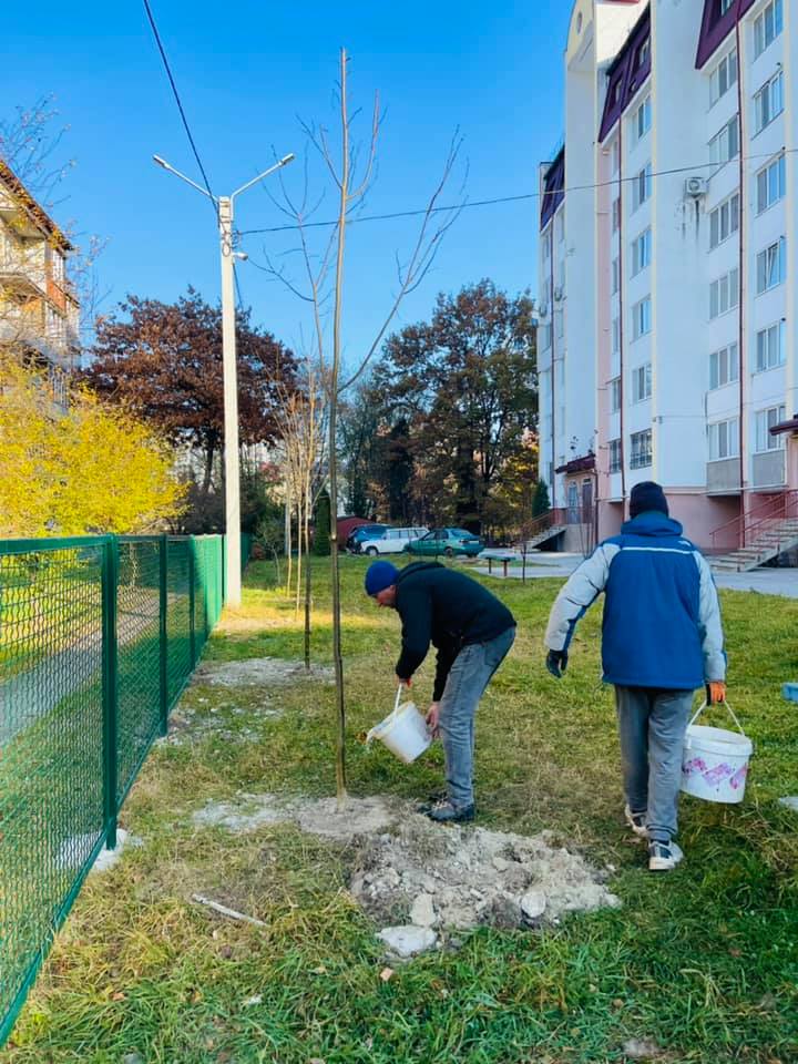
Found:
M 646 814 L 648 838 L 676 835 L 682 747 L 693 706 L 692 690 L 616 687 L 624 791 L 632 812 Z

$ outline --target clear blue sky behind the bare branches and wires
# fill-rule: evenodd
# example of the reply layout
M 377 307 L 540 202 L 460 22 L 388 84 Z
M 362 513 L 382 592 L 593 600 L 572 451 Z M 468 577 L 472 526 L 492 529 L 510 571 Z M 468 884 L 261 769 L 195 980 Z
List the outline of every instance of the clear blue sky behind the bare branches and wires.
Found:
M 301 156 L 297 116 L 332 125 L 341 44 L 351 55 L 355 103 L 368 111 L 379 90 L 387 112 L 369 213 L 421 206 L 456 126 L 466 137 L 473 200 L 535 191 L 538 162 L 561 134 L 570 0 L 152 3 L 217 193 L 268 165 L 273 145 L 280 155 Z M 25 4 L 6 4 L 2 35 L 0 108 L 7 114 L 54 92 L 71 127 L 64 152 L 78 166 L 58 221 L 74 218 L 80 231 L 108 238 L 100 262 L 101 285 L 110 289 L 103 309 L 127 291 L 171 300 L 188 284 L 216 300 L 218 245 L 208 204 L 151 162 L 158 153 L 200 180 L 141 0 L 40 0 L 33 14 Z M 366 124 L 361 130 L 365 136 Z M 301 165 L 294 163 L 286 178 L 298 190 Z M 321 186 L 319 171 L 311 180 Z M 332 208 L 328 191 L 319 217 L 332 216 Z M 466 211 L 398 324 L 428 315 L 439 290 L 483 276 L 511 291 L 533 286 L 536 213 L 535 201 Z M 257 188 L 238 202 L 242 229 L 282 221 Z M 416 225 L 374 222 L 350 229 L 351 357 L 389 303 L 395 253 L 409 247 Z M 285 238 L 266 239 L 273 252 L 288 246 Z M 262 238 L 244 246 L 263 258 Z M 303 305 L 249 264 L 239 267 L 239 277 L 256 319 L 295 342 Z

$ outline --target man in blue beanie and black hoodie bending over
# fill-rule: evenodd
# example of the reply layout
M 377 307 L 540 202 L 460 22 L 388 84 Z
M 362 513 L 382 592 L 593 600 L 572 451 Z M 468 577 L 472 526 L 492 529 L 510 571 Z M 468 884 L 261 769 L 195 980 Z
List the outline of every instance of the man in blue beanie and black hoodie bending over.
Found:
M 424 807 L 431 820 L 473 820 L 474 716 L 482 693 L 515 638 L 515 620 L 482 584 L 438 562 L 397 569 L 374 562 L 366 593 L 397 611 L 402 646 L 397 679 L 410 686 L 430 643 L 438 649 L 427 725 L 443 740 L 448 798 Z

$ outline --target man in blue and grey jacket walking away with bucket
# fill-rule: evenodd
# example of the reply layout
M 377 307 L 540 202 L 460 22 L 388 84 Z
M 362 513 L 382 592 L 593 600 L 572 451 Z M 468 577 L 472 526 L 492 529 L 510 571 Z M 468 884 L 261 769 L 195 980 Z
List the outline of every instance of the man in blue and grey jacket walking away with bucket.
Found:
M 576 622 L 605 592 L 602 665 L 615 685 L 625 816 L 648 838 L 648 868 L 666 871 L 683 856 L 673 837 L 693 693 L 706 684 L 708 702 L 726 699 L 726 655 L 709 566 L 669 519 L 659 484 L 635 484 L 630 518 L 557 595 L 546 667 L 565 672 Z

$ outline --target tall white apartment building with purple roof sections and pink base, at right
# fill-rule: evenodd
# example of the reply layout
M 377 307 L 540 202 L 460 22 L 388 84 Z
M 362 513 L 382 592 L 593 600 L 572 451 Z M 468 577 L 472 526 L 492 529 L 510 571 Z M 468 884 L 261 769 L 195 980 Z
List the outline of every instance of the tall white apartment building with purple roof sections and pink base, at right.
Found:
M 600 538 L 641 480 L 715 550 L 798 502 L 797 50 L 798 0 L 574 4 L 541 167 L 541 474 Z

